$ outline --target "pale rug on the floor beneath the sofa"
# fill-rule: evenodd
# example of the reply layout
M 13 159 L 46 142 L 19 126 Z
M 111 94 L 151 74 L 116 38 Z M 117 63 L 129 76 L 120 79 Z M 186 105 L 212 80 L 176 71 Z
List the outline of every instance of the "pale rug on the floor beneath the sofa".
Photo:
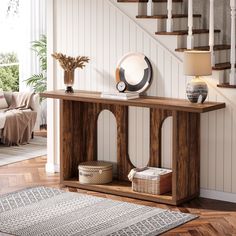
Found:
M 0 166 L 47 154 L 47 138 L 35 136 L 29 144 L 7 147 L 0 144 Z

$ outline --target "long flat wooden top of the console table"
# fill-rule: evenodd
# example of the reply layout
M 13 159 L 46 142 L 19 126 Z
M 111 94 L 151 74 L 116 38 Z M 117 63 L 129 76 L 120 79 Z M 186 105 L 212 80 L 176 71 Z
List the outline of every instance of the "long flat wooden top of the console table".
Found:
M 40 94 L 41 97 L 70 100 L 78 102 L 106 103 L 124 106 L 137 106 L 149 108 L 161 108 L 195 113 L 204 113 L 225 108 L 225 103 L 204 102 L 203 104 L 190 103 L 186 99 L 164 98 L 154 96 L 141 96 L 137 99 L 115 100 L 101 97 L 101 92 L 76 90 L 75 93 L 65 93 L 64 90 L 47 91 Z

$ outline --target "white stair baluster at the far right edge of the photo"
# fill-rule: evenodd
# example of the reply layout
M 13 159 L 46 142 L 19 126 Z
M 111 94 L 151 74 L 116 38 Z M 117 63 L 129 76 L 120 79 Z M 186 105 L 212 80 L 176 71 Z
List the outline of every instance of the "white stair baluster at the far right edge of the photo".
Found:
M 236 15 L 236 0 L 230 0 L 231 8 L 231 71 L 230 71 L 230 85 L 236 85 L 235 75 L 235 15 Z

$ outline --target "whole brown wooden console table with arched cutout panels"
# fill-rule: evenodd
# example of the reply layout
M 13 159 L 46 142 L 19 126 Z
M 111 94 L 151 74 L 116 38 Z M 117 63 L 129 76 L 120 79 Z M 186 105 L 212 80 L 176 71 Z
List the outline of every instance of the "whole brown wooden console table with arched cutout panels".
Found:
M 86 190 L 178 205 L 199 196 L 200 190 L 200 113 L 218 110 L 225 103 L 191 104 L 187 100 L 144 96 L 134 100 L 111 100 L 100 93 L 52 91 L 42 97 L 60 99 L 60 181 Z M 133 192 L 127 175 L 133 165 L 128 155 L 128 107 L 150 108 L 149 166 L 161 167 L 161 127 L 173 117 L 172 193 L 152 195 Z M 78 181 L 78 165 L 97 160 L 97 119 L 110 110 L 117 121 L 118 177 L 111 184 L 84 185 Z

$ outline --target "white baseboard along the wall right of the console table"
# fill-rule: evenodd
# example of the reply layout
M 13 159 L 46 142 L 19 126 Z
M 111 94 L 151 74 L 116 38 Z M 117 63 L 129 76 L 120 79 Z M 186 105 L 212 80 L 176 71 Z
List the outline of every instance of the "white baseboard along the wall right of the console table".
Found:
M 214 200 L 236 203 L 236 193 L 226 193 L 208 189 L 201 189 L 200 196 Z

